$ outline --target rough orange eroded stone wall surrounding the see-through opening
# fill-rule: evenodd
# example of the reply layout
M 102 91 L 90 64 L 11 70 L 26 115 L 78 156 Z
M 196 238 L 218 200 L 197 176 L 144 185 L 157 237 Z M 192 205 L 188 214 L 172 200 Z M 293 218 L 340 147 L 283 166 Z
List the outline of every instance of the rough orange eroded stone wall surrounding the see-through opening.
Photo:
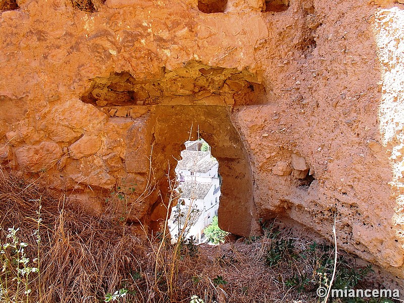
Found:
M 6 3 L 4 168 L 158 229 L 174 158 L 201 135 L 222 228 L 287 217 L 327 237 L 336 214 L 339 247 L 404 277 L 401 4 Z

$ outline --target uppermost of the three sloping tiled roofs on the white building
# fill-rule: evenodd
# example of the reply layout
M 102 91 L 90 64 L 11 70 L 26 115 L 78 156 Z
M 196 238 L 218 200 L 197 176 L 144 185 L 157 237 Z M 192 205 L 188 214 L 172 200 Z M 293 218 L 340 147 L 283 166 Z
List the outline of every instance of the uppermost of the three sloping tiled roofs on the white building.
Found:
M 176 169 L 188 170 L 195 173 L 207 173 L 217 163 L 217 160 L 210 155 L 209 151 L 183 150 L 182 159 L 178 161 Z

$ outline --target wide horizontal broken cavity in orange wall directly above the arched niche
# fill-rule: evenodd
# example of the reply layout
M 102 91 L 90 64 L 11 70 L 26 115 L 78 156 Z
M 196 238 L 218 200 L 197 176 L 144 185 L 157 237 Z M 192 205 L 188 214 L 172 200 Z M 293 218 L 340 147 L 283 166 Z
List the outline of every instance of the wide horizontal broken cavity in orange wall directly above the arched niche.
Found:
M 197 62 L 166 70 L 160 79 L 136 79 L 122 72 L 91 80 L 91 88 L 81 100 L 111 117 L 133 118 L 130 111 L 139 106 L 209 104 L 237 108 L 267 103 L 265 87 L 255 75 Z

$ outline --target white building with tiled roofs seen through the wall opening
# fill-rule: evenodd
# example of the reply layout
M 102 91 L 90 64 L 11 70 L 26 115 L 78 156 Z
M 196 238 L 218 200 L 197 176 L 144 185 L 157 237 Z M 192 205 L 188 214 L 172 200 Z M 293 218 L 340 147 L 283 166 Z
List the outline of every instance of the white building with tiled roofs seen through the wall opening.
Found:
M 182 159 L 175 168 L 180 197 L 171 211 L 168 227 L 171 237 L 176 240 L 179 231 L 187 223 L 185 238 L 194 236 L 200 242 L 204 228 L 218 213 L 219 164 L 204 140 L 187 141 L 185 147 L 181 152 Z

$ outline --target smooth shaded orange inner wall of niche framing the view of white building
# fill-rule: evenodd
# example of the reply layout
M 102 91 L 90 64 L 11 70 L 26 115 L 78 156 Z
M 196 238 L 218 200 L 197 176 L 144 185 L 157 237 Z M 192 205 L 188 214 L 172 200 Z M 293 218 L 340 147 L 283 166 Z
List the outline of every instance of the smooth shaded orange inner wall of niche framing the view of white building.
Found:
M 231 233 L 249 236 L 259 232 L 255 221 L 251 169 L 243 142 L 229 114 L 224 106 L 156 107 L 153 168 L 162 196 L 167 197 L 167 167 L 170 164 L 170 179 L 173 180 L 183 142 L 197 139 L 199 129 L 199 137 L 203 137 L 214 151 L 223 178 L 219 225 Z M 164 204 L 167 205 L 168 200 Z M 158 223 L 151 222 L 151 228 L 157 229 Z

